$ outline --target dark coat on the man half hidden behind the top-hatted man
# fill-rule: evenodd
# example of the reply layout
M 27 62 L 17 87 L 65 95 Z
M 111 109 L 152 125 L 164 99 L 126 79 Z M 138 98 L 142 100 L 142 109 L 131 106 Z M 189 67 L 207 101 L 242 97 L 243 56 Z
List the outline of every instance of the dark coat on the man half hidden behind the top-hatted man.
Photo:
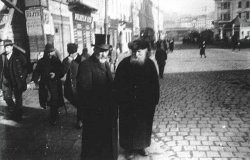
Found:
M 75 106 L 77 106 L 78 100 L 76 91 L 76 76 L 80 62 L 80 55 L 77 55 L 76 59 L 71 62 L 69 62 L 68 57 L 63 60 L 64 74 L 66 73 L 66 80 L 64 82 L 64 97 Z

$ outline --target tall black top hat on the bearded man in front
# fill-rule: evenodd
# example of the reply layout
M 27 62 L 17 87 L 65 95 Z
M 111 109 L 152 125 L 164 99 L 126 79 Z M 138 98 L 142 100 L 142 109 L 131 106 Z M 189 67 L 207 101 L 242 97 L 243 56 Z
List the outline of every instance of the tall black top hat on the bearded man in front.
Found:
M 105 34 L 95 34 L 95 44 L 92 44 L 92 46 L 101 49 L 102 51 L 109 50 L 109 37 L 110 35 L 107 35 L 107 43 L 106 43 L 106 35 Z

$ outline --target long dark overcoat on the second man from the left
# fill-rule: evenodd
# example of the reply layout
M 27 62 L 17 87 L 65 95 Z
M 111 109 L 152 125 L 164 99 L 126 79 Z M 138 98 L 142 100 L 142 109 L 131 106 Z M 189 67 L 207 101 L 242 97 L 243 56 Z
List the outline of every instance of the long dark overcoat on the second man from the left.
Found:
M 55 73 L 55 78 L 50 78 L 50 72 Z M 63 66 L 61 61 L 52 56 L 43 57 L 37 62 L 37 66 L 33 72 L 32 80 L 38 82 L 39 78 L 39 101 L 49 100 L 47 103 L 51 106 L 60 107 L 64 104 L 62 97 L 62 82 Z M 48 92 L 51 97 L 49 99 Z

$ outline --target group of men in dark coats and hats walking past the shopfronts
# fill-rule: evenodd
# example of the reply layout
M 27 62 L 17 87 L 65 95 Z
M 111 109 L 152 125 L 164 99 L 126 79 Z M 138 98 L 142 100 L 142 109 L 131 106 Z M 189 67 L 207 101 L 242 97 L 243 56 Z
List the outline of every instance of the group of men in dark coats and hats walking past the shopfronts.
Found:
M 21 121 L 27 62 L 23 54 L 13 50 L 12 41 L 6 40 L 4 47 L 0 86 L 8 108 L 5 118 Z M 39 103 L 50 109 L 51 125 L 59 121 L 58 109 L 65 106 L 64 98 L 76 107 L 76 128 L 82 128 L 83 160 L 116 160 L 118 144 L 127 158 L 148 155 L 145 148 L 151 143 L 160 93 L 158 77 L 163 78 L 167 45 L 163 40 L 154 44 L 137 39 L 129 49 L 131 55 L 116 66 L 118 54 L 105 41 L 93 44 L 92 55 L 87 49 L 80 55 L 78 45 L 69 43 L 68 56 L 62 61 L 54 46 L 46 44 L 34 67 L 28 88 L 39 86 Z M 149 58 L 151 50 L 156 50 L 159 75 Z

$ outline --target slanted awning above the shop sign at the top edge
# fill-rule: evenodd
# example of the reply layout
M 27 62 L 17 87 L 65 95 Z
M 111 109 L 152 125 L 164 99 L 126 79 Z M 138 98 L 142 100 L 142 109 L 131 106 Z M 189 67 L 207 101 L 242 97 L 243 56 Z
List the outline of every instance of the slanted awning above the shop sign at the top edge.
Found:
M 68 0 L 69 7 L 71 8 L 83 8 L 83 9 L 89 9 L 92 12 L 97 11 L 97 7 L 94 6 L 94 4 L 91 1 L 87 0 Z

